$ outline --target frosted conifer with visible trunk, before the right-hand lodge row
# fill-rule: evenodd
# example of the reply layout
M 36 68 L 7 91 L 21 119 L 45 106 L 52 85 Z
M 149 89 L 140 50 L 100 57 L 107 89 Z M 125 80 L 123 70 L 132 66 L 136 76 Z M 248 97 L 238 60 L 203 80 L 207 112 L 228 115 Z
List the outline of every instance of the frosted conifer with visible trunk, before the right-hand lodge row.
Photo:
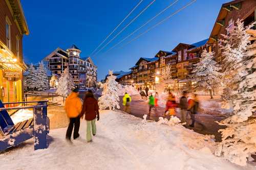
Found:
M 210 97 L 213 99 L 212 90 L 220 83 L 220 66 L 214 61 L 214 53 L 204 50 L 201 54 L 200 62 L 192 71 L 196 89 L 207 89 L 210 91 Z

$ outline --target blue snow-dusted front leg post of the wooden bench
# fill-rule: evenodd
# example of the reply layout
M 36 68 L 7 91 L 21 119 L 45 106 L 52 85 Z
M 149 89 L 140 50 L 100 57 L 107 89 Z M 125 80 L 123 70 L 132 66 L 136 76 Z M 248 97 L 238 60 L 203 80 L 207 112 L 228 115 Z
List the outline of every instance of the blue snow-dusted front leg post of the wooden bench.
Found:
M 38 102 L 34 106 L 34 149 L 47 148 L 47 133 L 49 133 L 49 118 L 47 117 L 47 102 Z

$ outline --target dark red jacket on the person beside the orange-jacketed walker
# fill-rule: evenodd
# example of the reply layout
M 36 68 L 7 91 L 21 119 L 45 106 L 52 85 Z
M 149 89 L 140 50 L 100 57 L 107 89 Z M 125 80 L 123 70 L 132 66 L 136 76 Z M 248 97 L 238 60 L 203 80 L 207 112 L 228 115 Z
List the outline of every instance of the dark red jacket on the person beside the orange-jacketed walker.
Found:
M 86 113 L 86 120 L 93 120 L 99 113 L 98 101 L 94 98 L 87 98 L 83 101 L 81 116 Z

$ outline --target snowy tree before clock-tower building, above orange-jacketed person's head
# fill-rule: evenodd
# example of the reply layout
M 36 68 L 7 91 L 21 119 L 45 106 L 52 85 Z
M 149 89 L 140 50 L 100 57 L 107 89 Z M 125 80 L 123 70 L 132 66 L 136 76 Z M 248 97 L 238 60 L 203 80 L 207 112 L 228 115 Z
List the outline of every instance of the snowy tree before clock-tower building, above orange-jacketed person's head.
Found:
M 74 87 L 72 75 L 69 72 L 69 67 L 67 67 L 60 75 L 56 93 L 67 97 Z

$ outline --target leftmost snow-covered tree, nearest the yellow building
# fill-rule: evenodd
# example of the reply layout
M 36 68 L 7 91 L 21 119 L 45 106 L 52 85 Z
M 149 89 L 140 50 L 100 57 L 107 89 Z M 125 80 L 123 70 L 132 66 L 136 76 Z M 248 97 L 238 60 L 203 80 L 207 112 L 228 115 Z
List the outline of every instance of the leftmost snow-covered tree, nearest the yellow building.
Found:
M 36 70 L 33 64 L 29 66 L 27 71 L 28 71 L 28 76 L 26 76 L 25 85 L 29 90 L 31 89 L 34 90 L 37 84 L 37 76 L 36 76 Z

